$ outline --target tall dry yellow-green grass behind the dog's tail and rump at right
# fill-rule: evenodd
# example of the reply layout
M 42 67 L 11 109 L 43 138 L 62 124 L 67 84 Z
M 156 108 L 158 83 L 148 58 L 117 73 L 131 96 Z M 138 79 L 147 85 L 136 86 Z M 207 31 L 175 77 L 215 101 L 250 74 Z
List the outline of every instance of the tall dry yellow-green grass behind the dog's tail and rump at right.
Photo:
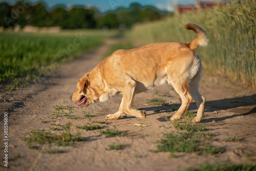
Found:
M 256 88 L 256 1 L 230 1 L 225 6 L 137 25 L 131 36 L 142 44 L 189 42 L 196 34 L 185 30 L 188 23 L 199 25 L 209 36 L 208 47 L 197 50 L 205 68 Z

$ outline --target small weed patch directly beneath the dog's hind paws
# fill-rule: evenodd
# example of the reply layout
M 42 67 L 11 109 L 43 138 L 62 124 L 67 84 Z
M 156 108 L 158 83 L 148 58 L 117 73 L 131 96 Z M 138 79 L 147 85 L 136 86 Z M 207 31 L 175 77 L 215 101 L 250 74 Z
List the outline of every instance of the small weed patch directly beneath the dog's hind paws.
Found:
M 203 125 L 191 124 L 191 121 L 174 121 L 173 125 L 177 130 L 186 130 L 190 132 L 206 131 L 206 127 Z

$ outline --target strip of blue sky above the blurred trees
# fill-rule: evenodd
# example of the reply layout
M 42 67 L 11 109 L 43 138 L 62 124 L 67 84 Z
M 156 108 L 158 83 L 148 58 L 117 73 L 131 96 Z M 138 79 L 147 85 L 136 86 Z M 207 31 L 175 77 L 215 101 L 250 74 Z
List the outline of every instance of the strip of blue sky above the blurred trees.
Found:
M 0 2 L 9 2 L 13 4 L 16 0 L 0 0 Z M 172 11 L 174 4 L 195 4 L 196 0 L 44 0 L 48 8 L 56 5 L 65 5 L 66 7 L 79 6 L 95 6 L 100 12 L 115 10 L 120 7 L 128 8 L 132 3 L 139 3 L 142 6 L 154 6 L 159 10 Z M 38 0 L 30 0 L 31 3 L 36 3 Z

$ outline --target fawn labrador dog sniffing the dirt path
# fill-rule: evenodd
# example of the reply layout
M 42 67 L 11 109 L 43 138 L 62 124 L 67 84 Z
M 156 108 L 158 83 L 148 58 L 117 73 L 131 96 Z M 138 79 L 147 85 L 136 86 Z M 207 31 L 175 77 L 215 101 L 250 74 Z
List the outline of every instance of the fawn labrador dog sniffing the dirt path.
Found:
M 182 99 L 179 110 L 170 119 L 180 119 L 194 99 L 198 107 L 194 122 L 201 122 L 205 99 L 198 91 L 202 65 L 195 50 L 199 46 L 207 46 L 208 37 L 195 24 L 187 24 L 185 28 L 197 33 L 197 38 L 188 44 L 160 42 L 115 51 L 79 79 L 77 91 L 71 99 L 78 106 L 87 107 L 91 103 L 103 102 L 122 93 L 119 110 L 106 118 L 119 119 L 127 114 L 145 119 L 145 111 L 132 108 L 135 94 L 168 82 Z

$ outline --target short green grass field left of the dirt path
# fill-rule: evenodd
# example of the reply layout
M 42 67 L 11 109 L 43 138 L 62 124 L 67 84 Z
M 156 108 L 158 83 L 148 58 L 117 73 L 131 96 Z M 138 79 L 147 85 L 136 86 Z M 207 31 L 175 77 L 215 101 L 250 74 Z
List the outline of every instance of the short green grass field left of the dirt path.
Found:
M 48 75 L 116 31 L 65 30 L 60 33 L 0 33 L 0 83 L 5 92 Z M 8 83 L 7 83 L 8 82 Z

